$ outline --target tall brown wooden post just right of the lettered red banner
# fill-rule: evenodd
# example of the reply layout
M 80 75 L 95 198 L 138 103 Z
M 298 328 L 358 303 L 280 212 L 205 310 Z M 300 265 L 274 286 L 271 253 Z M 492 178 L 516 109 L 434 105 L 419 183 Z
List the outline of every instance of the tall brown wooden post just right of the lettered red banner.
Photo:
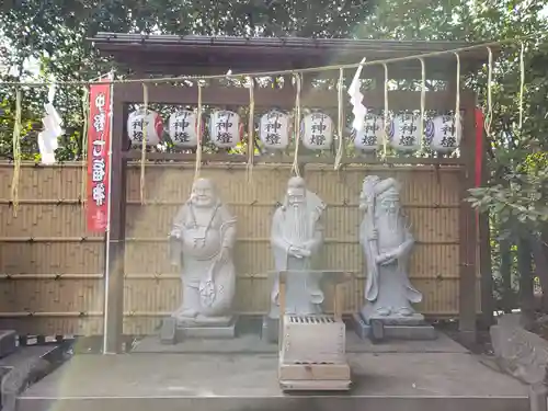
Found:
M 105 277 L 104 304 L 104 340 L 103 353 L 122 352 L 124 321 L 124 242 L 125 242 L 125 205 L 126 205 L 126 161 L 123 159 L 124 148 L 124 103 L 117 95 L 117 84 L 113 88 L 113 114 L 111 136 L 111 239 Z

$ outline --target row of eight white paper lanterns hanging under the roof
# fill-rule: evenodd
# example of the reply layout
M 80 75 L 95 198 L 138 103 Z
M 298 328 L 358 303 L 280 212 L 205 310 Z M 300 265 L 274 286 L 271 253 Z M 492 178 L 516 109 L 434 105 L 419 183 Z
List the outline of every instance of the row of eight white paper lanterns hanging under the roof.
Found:
M 387 144 L 397 151 L 411 152 L 421 149 L 421 116 L 400 114 L 387 121 Z M 366 114 L 361 130 L 354 133 L 354 146 L 362 151 L 375 151 L 383 146 L 385 118 Z M 202 122 L 202 132 L 205 124 Z M 191 110 L 178 111 L 169 117 L 169 136 L 175 147 L 191 148 L 198 142 L 197 114 Z M 424 141 L 436 152 L 450 152 L 459 147 L 463 127 L 455 124 L 455 116 L 441 115 L 423 123 Z M 127 118 L 128 137 L 134 146 L 162 142 L 163 123 L 153 111 L 137 110 Z M 300 123 L 300 140 L 310 150 L 326 150 L 333 144 L 334 124 L 321 112 L 304 116 Z M 284 150 L 289 146 L 292 121 L 287 113 L 272 110 L 260 119 L 259 138 L 266 149 Z M 202 133 L 202 135 L 204 135 Z M 219 110 L 209 117 L 209 139 L 219 148 L 233 148 L 243 137 L 243 124 L 238 113 Z

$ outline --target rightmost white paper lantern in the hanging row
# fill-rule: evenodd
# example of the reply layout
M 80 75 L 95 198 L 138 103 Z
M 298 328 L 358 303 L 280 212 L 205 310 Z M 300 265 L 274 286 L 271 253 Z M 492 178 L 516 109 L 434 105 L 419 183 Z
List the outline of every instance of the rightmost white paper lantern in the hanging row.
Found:
M 439 115 L 426 122 L 424 135 L 431 149 L 450 152 L 460 146 L 463 124 L 455 124 L 455 116 Z

